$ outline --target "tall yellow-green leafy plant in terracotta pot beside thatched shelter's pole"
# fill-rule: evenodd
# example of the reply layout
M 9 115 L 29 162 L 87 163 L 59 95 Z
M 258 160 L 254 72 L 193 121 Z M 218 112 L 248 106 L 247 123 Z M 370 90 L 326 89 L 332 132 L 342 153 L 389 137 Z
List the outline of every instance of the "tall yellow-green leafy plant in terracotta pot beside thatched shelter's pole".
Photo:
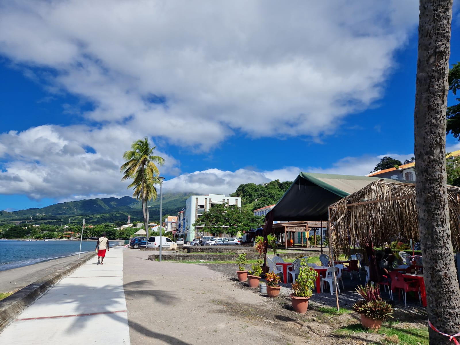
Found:
M 291 303 L 294 311 L 305 314 L 308 308 L 308 300 L 313 294 L 318 272 L 307 265 L 305 259 L 300 260 L 299 276 L 292 284 L 294 293 L 291 293 Z

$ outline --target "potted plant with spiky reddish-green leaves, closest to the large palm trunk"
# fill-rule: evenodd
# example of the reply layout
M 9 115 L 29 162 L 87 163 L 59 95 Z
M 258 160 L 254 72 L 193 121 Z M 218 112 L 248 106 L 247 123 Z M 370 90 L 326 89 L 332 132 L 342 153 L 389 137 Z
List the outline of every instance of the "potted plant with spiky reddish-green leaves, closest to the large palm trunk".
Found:
M 358 301 L 353 305 L 353 310 L 361 315 L 361 324 L 364 328 L 369 328 L 377 332 L 385 321 L 393 313 L 391 304 L 380 298 L 377 287 L 368 284 L 358 286 L 356 290 L 364 300 Z

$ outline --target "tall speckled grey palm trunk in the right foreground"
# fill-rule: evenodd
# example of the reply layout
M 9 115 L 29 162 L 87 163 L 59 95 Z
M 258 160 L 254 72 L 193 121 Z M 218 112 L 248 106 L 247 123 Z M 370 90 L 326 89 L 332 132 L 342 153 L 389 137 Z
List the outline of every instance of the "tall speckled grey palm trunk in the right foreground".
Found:
M 446 334 L 460 331 L 446 189 L 446 108 L 452 0 L 420 0 L 414 109 L 415 172 L 428 318 Z M 452 344 L 430 328 L 430 344 Z

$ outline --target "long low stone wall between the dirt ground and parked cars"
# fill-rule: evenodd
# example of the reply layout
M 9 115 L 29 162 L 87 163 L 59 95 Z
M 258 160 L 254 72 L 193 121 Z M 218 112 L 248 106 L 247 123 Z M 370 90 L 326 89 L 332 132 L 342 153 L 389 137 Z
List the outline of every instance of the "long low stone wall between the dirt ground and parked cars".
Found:
M 303 253 L 304 256 L 315 256 L 317 253 Z M 213 254 L 213 253 L 200 253 L 200 254 L 189 254 L 189 253 L 171 253 L 171 254 L 161 254 L 162 260 L 172 260 L 172 261 L 236 261 L 238 254 Z M 299 256 L 299 253 L 282 253 L 279 255 L 283 259 L 295 259 Z M 149 260 L 156 261 L 158 260 L 159 255 L 153 254 L 149 255 Z M 272 255 L 267 255 L 267 258 L 271 258 Z M 248 253 L 246 259 L 248 260 L 257 260 L 258 254 Z

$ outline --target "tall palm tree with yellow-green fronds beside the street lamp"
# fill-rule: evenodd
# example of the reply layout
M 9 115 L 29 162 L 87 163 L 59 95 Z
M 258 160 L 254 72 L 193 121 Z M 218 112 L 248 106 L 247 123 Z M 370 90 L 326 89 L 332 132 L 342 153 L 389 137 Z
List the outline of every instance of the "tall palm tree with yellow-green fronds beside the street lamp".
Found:
M 155 149 L 156 146 L 150 147 L 147 137 L 136 140 L 131 144 L 131 150 L 123 154 L 126 163 L 120 168 L 120 171 L 124 174 L 121 181 L 131 178 L 132 183 L 128 188 L 134 188 L 133 196 L 136 197 L 136 200 L 142 202 L 147 240 L 149 239 L 149 209 L 147 208 L 147 202 L 156 199 L 155 184 L 160 184 L 158 180 L 160 172 L 155 163 L 161 166 L 165 162 L 160 156 L 153 155 Z

